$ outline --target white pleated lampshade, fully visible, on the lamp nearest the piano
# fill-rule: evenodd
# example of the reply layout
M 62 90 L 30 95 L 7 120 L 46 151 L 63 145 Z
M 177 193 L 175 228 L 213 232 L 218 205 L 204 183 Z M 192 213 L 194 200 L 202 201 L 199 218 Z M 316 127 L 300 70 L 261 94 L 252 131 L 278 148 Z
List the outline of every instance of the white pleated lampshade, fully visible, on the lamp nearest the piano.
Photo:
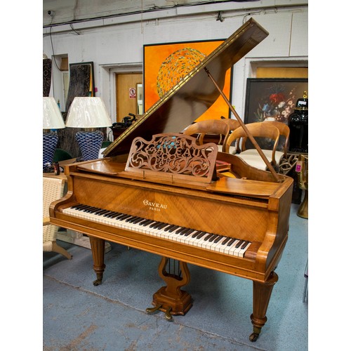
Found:
M 101 98 L 74 98 L 68 110 L 66 126 L 101 128 L 112 126 L 112 121 Z

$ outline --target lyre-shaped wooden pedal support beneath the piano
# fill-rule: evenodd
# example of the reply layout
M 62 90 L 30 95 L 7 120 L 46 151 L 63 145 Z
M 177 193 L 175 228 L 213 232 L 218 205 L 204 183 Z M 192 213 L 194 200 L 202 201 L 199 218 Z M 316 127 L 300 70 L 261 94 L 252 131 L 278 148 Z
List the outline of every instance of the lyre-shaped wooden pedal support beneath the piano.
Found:
M 172 315 L 184 315 L 192 307 L 190 294 L 180 289 L 190 282 L 190 272 L 185 262 L 178 262 L 180 273 L 167 272 L 166 267 L 170 263 L 170 259 L 166 257 L 161 258 L 159 276 L 166 282 L 167 286 L 162 286 L 161 289 L 154 293 L 152 305 L 155 307 L 146 309 L 149 313 L 157 310 L 164 312 L 168 321 L 173 319 Z

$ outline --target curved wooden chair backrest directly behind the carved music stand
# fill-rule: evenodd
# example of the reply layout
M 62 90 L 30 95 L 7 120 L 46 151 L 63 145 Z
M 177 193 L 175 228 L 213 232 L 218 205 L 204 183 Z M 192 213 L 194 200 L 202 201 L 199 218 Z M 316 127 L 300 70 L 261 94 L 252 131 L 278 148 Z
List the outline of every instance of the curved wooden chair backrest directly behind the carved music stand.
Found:
M 229 133 L 230 127 L 223 119 L 205 119 L 204 121 L 198 121 L 194 124 L 190 124 L 190 126 L 187 126 L 183 131 L 185 135 L 199 134 L 197 137 L 199 145 L 204 144 L 204 136 L 206 134 L 220 135 L 219 144 L 225 145 Z

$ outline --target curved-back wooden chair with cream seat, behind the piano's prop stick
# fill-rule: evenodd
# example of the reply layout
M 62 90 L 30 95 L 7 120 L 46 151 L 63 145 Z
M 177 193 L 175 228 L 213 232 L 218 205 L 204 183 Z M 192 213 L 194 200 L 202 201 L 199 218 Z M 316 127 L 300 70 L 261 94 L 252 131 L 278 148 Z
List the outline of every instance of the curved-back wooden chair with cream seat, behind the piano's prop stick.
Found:
M 251 132 L 253 138 L 258 140 L 259 138 L 265 138 L 266 140 L 272 140 L 272 149 L 263 149 L 263 154 L 267 157 L 267 160 L 272 164 L 273 167 L 277 168 L 277 161 L 275 154 L 277 152 L 277 145 L 279 141 L 279 129 L 273 124 L 267 122 L 256 122 L 245 125 L 246 128 Z M 250 166 L 256 167 L 258 169 L 265 170 L 267 165 L 263 161 L 262 157 L 256 150 L 256 148 L 246 149 L 246 141 L 248 137 L 243 127 L 239 127 L 232 131 L 232 133 L 227 138 L 227 143 L 224 147 L 225 150 L 229 150 L 230 146 L 234 143 L 234 147 L 237 152 L 235 155 L 243 159 Z M 240 145 L 241 141 L 241 145 Z M 241 150 L 240 150 L 241 149 Z

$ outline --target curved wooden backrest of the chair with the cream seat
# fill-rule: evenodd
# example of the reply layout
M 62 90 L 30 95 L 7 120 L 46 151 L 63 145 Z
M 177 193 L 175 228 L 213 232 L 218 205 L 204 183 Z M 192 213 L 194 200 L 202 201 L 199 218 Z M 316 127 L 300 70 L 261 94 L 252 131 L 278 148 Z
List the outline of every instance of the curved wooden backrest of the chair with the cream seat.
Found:
M 277 150 L 277 145 L 279 141 L 279 129 L 274 126 L 273 124 L 269 123 L 264 123 L 264 122 L 255 122 L 255 123 L 249 123 L 245 124 L 246 128 L 249 130 L 253 138 L 268 138 L 272 140 L 274 143 L 272 147 L 272 161 L 273 164 L 275 163 L 275 151 Z M 244 131 L 243 127 L 239 127 L 232 131 L 232 133 L 229 135 L 227 138 L 227 142 L 224 145 L 224 151 L 227 152 L 229 150 L 230 145 L 232 143 L 235 143 L 235 146 L 237 147 L 237 152 L 240 152 L 240 139 L 241 141 L 241 150 L 245 151 L 246 150 L 246 140 L 247 140 L 247 135 L 246 132 Z

